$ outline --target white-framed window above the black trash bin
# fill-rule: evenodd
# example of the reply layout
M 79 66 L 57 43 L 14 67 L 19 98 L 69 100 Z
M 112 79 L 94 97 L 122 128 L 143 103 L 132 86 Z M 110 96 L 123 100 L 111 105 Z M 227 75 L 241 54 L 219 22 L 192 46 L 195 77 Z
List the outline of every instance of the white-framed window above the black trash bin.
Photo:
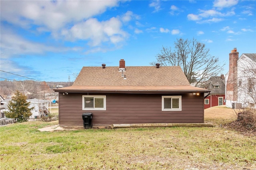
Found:
M 83 110 L 106 111 L 106 96 L 83 95 Z

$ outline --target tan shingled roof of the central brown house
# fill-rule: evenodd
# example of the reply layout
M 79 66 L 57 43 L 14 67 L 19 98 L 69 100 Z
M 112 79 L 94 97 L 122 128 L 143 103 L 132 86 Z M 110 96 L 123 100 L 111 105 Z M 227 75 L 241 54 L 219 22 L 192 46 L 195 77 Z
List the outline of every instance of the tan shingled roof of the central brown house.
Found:
M 180 66 L 83 67 L 70 87 L 55 91 L 208 91 L 189 84 Z

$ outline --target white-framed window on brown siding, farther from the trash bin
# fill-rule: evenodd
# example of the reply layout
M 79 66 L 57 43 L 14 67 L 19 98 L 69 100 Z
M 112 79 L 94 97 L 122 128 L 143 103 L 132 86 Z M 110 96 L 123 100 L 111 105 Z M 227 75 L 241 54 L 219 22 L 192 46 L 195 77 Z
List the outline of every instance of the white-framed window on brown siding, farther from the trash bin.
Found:
M 162 111 L 181 111 L 181 96 L 162 96 Z

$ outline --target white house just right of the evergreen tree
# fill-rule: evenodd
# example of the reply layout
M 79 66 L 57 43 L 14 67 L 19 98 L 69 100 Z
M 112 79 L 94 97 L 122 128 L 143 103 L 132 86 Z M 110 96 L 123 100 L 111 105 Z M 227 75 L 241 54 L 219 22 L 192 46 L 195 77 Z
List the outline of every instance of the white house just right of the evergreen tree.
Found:
M 47 116 L 50 113 L 48 110 L 50 101 L 40 99 L 28 99 L 27 101 L 30 102 L 29 108 L 34 107 L 31 111 L 32 115 L 29 117 L 30 119 L 37 119 L 38 117 Z

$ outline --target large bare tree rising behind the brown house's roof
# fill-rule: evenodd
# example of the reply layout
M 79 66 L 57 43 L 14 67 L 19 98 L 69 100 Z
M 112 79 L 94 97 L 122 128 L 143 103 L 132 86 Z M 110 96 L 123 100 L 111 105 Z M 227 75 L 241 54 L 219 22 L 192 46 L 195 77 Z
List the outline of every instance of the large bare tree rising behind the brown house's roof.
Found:
M 219 63 L 218 57 L 209 54 L 204 43 L 196 39 L 177 39 L 171 47 L 162 47 L 156 55 L 157 62 L 164 66 L 180 66 L 189 83 L 197 86 L 222 70 L 224 64 Z M 154 65 L 155 62 L 150 63 Z

